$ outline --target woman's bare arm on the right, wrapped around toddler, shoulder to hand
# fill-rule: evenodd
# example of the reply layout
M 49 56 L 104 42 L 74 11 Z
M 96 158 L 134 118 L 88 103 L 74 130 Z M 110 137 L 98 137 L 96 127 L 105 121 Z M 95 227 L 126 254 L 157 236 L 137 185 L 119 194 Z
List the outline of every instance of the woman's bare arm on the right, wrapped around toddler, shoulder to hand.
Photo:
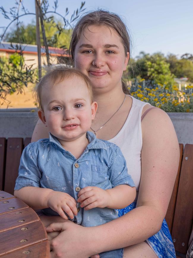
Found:
M 143 148 L 141 153 L 142 175 L 137 208 L 124 216 L 93 228 L 71 225 L 51 241 L 53 253 L 75 257 L 122 248 L 141 243 L 159 231 L 167 212 L 179 164 L 179 145 L 173 124 L 168 115 L 152 109 L 143 119 Z M 74 225 L 76 227 L 77 225 Z M 52 224 L 50 227 L 57 229 Z M 75 232 L 80 237 L 72 237 Z M 77 233 L 78 232 L 78 233 Z M 65 239 L 65 246 L 62 245 Z M 105 241 L 104 241 L 105 240 Z M 62 256 L 61 256 L 62 257 Z M 66 257 L 66 256 L 65 256 Z

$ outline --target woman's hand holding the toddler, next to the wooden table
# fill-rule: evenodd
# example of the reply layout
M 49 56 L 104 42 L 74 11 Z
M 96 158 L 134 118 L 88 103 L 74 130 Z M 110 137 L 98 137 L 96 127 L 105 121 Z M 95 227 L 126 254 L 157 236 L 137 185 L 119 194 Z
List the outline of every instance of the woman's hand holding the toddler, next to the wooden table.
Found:
M 98 254 L 92 255 L 92 243 L 89 243 L 90 237 L 88 232 L 86 232 L 88 230 L 89 228 L 75 223 L 51 223 L 46 227 L 47 233 L 54 231 L 60 231 L 61 233 L 50 241 L 50 258 L 99 258 Z M 87 236 L 87 239 L 85 239 L 85 236 Z

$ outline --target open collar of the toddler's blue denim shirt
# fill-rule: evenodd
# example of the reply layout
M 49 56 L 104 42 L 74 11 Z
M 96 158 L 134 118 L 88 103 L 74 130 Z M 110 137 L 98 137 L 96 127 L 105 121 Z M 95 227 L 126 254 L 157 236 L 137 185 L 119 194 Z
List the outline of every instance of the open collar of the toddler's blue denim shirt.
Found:
M 97 139 L 97 137 L 94 133 L 89 132 L 89 131 L 86 132 L 86 138 L 89 141 L 89 143 L 87 145 L 88 150 L 89 149 L 105 149 L 105 150 L 107 150 L 107 144 L 104 141 Z M 52 135 L 50 132 L 49 132 L 49 140 L 50 140 L 50 142 L 55 143 L 60 149 L 65 150 L 61 146 L 58 139 L 54 135 Z

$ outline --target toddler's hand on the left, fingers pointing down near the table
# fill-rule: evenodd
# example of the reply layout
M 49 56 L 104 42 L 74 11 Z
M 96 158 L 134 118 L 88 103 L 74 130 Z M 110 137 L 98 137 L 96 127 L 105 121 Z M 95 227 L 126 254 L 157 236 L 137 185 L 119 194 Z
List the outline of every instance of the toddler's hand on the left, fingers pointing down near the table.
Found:
M 48 194 L 47 204 L 48 207 L 58 212 L 58 214 L 66 220 L 68 217 L 65 215 L 64 211 L 71 219 L 78 213 L 75 199 L 67 193 L 52 191 Z

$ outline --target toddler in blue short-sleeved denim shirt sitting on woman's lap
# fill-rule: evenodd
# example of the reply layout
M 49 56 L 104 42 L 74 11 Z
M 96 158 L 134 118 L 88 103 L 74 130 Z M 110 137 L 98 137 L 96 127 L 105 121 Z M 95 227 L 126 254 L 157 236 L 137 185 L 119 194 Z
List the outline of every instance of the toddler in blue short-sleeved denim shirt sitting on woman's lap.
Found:
M 89 79 L 73 68 L 56 66 L 36 93 L 49 139 L 23 150 L 14 195 L 45 215 L 82 226 L 118 218 L 116 209 L 134 201 L 135 184 L 119 147 L 88 131 L 97 111 Z M 123 248 L 100 254 L 122 256 Z

